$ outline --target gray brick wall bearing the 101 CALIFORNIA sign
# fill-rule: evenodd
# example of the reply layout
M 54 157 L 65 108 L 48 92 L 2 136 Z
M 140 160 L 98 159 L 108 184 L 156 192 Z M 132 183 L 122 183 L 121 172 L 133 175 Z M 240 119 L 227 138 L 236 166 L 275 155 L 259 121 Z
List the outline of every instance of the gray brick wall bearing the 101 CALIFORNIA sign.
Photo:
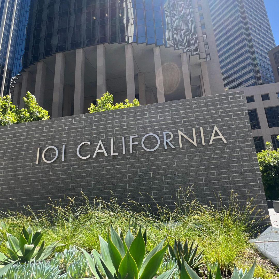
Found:
M 127 198 L 150 203 L 148 194 L 163 205 L 173 204 L 179 186 L 189 188 L 202 203 L 217 202 L 218 192 L 226 200 L 231 190 L 238 193 L 241 203 L 247 195 L 266 210 L 266 200 L 256 158 L 246 100 L 243 92 L 224 93 L 160 104 L 143 105 L 95 114 L 83 114 L 45 121 L 0 127 L 0 206 L 3 210 L 23 209 L 29 205 L 37 210 L 52 200 L 66 196 L 81 196 L 81 191 L 93 199 L 109 200 L 111 191 L 120 202 Z M 214 126 L 227 143 L 214 139 L 209 145 Z M 205 145 L 202 144 L 203 128 Z M 197 146 L 178 132 L 193 140 L 196 130 Z M 163 132 L 173 133 L 173 149 L 164 148 Z M 145 151 L 141 139 L 147 133 L 157 134 L 159 148 Z M 138 135 L 130 153 L 129 137 Z M 126 152 L 122 153 L 122 137 Z M 218 136 L 216 133 L 215 136 Z M 110 139 L 114 138 L 111 156 Z M 169 138 L 169 135 L 167 135 Z M 108 156 L 98 153 L 93 158 L 99 140 Z M 81 155 L 77 147 L 83 141 Z M 157 145 L 154 136 L 145 140 L 146 148 Z M 42 161 L 47 146 L 56 146 L 59 157 L 53 163 Z M 62 146 L 65 160 L 62 162 Z M 36 164 L 40 147 L 39 164 Z M 55 157 L 54 149 L 45 158 Z M 139 192 L 141 194 L 139 194 Z M 148 194 L 147 194 L 148 193 Z

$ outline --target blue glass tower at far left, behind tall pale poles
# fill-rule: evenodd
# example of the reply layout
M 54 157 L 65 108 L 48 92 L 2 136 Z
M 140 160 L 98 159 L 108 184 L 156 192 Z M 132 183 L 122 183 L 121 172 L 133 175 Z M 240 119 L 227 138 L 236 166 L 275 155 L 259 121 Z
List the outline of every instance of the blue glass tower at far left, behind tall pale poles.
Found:
M 22 68 L 29 6 L 30 0 L 0 0 L 0 96 L 13 92 Z

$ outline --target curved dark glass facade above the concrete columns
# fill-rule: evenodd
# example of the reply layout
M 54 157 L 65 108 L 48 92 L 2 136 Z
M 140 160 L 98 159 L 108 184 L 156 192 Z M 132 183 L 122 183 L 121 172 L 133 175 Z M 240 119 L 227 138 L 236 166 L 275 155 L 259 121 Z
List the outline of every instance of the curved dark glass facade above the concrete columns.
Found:
M 191 0 L 31 0 L 23 68 L 56 52 L 145 43 L 199 54 Z

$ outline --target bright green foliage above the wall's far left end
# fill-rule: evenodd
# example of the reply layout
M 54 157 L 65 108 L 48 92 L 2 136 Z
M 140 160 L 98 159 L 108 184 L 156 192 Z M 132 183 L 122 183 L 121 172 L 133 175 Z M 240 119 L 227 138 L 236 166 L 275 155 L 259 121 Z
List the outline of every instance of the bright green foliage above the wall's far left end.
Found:
M 39 106 L 34 95 L 23 97 L 25 107 L 18 109 L 6 95 L 0 98 L 0 126 L 49 119 L 48 111 Z

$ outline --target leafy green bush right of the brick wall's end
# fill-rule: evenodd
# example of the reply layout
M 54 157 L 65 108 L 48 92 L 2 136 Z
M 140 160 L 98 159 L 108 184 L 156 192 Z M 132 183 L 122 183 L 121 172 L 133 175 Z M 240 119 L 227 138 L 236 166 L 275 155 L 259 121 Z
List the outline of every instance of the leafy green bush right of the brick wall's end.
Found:
M 266 150 L 257 153 L 257 157 L 266 199 L 279 199 L 279 148 L 272 150 L 271 143 L 266 142 Z

